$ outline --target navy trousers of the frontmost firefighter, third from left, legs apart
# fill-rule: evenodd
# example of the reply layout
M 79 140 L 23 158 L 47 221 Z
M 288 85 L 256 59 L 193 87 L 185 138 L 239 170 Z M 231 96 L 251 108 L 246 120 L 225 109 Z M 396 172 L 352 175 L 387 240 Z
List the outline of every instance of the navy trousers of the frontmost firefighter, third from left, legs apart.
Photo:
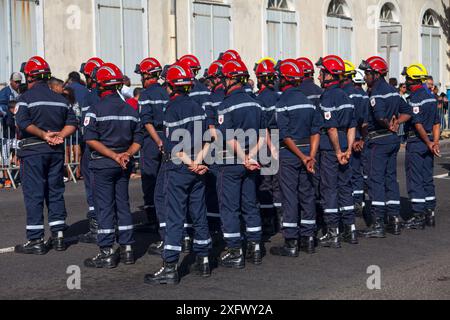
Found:
M 212 240 L 206 217 L 204 177 L 190 172 L 185 165 L 171 165 L 167 169 L 167 182 L 164 261 L 175 263 L 179 260 L 189 210 L 194 230 L 193 250 L 197 256 L 207 257 Z

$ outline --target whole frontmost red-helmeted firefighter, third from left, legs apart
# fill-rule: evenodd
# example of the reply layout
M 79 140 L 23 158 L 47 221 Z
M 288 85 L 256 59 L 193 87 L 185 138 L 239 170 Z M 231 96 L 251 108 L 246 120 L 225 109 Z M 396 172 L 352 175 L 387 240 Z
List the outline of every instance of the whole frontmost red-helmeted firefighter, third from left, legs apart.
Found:
M 175 64 L 166 76 L 170 102 L 167 105 L 164 126 L 166 128 L 167 154 L 167 229 L 164 241 L 163 267 L 145 276 L 149 284 L 177 284 L 179 282 L 178 261 L 182 252 L 184 224 L 187 214 L 192 216 L 194 228 L 193 250 L 197 255 L 196 269 L 201 277 L 209 277 L 209 251 L 211 237 L 208 231 L 205 205 L 204 174 L 208 168 L 203 157 L 209 143 L 203 143 L 206 131 L 206 114 L 192 98 L 189 91 L 194 83 L 194 74 L 189 67 Z M 200 128 L 200 132 L 196 132 Z M 182 137 L 176 131 L 184 130 Z M 183 148 L 177 150 L 178 141 Z

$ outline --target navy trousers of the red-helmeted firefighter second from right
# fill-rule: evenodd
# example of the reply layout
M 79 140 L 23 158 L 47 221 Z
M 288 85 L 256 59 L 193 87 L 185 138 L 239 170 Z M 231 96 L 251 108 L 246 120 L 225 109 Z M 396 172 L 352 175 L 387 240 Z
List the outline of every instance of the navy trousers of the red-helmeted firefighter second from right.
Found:
M 400 215 L 400 190 L 397 181 L 397 154 L 400 143 L 369 142 L 369 196 L 371 213 L 379 219 Z

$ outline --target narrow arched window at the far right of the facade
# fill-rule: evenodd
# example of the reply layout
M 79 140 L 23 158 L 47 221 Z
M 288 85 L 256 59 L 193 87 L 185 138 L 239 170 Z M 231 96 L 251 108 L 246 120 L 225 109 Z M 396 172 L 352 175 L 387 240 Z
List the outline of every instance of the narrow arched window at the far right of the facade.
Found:
M 435 11 L 429 9 L 422 17 L 422 63 L 436 82 L 440 81 L 441 29 Z

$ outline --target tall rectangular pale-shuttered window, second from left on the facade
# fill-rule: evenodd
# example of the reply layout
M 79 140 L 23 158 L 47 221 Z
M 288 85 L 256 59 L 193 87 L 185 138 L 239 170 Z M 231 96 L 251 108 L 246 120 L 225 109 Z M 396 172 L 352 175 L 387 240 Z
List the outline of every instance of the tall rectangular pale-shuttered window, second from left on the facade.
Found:
M 133 85 L 140 84 L 136 63 L 148 55 L 146 3 L 96 0 L 97 55 L 119 66 Z

